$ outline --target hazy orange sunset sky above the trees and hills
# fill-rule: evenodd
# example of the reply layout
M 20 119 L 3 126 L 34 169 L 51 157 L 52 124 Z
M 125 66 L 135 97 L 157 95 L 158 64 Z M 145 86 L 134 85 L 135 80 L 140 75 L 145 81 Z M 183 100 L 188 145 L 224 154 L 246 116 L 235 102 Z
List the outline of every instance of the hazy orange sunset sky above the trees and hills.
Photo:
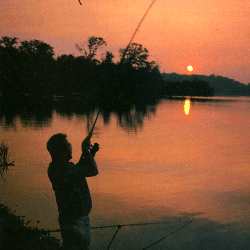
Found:
M 103 37 L 117 55 L 126 47 L 152 0 L 2 0 L 0 37 L 38 39 L 56 55 Z M 250 83 L 249 0 L 156 0 L 134 41 L 165 73 L 221 75 Z M 118 59 L 118 57 L 116 57 Z

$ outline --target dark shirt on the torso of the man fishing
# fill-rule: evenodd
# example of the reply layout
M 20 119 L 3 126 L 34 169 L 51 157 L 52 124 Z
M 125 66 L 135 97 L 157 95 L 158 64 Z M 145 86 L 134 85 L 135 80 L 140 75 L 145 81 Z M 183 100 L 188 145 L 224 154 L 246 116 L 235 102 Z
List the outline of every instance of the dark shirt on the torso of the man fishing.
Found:
M 55 191 L 60 223 L 69 223 L 90 213 L 92 200 L 83 172 L 84 166 L 72 162 L 49 165 L 48 176 Z

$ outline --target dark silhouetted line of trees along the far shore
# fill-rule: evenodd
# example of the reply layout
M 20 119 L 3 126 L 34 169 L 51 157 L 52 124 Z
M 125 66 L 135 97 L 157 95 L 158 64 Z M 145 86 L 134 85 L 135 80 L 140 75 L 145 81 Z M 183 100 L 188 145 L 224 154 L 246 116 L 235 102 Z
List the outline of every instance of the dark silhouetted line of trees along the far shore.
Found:
M 101 37 L 92 36 L 87 44 L 76 45 L 82 55 L 60 55 L 39 40 L 21 41 L 14 37 L 0 40 L 0 92 L 2 95 L 74 96 L 96 100 L 134 100 L 162 95 L 212 95 L 206 82 L 165 82 L 149 53 L 132 43 L 119 50 L 120 60 L 106 51 Z M 189 87 L 187 87 L 189 86 Z

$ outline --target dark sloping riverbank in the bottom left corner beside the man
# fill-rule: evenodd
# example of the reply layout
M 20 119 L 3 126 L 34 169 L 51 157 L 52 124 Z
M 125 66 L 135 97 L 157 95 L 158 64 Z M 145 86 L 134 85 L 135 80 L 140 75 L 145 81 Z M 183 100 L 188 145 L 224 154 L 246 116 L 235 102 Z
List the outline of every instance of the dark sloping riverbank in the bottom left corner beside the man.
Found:
M 0 203 L 0 248 L 1 250 L 59 250 L 58 239 L 25 225 L 22 216 L 16 216 Z

